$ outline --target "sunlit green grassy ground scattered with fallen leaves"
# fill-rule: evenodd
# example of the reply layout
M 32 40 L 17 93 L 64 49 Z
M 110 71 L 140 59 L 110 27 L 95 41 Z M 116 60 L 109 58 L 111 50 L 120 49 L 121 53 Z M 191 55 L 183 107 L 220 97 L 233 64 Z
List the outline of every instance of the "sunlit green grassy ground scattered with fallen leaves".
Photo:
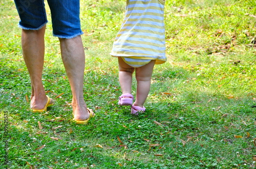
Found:
M 0 166 L 8 160 L 15 169 L 254 168 L 256 2 L 167 0 L 168 61 L 155 67 L 139 117 L 117 105 L 118 67 L 109 55 L 124 5 L 81 1 L 84 95 L 96 117 L 76 125 L 49 9 L 43 79 L 55 105 L 35 114 L 19 18 L 13 1 L 1 1 Z

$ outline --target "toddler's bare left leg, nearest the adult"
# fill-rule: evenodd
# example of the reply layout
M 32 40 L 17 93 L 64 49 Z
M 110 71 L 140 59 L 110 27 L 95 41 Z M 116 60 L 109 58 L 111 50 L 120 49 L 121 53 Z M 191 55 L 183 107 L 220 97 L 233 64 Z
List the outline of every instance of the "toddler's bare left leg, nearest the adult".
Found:
M 132 92 L 132 77 L 135 68 L 127 65 L 121 57 L 118 57 L 119 64 L 119 83 L 121 86 L 122 94 Z

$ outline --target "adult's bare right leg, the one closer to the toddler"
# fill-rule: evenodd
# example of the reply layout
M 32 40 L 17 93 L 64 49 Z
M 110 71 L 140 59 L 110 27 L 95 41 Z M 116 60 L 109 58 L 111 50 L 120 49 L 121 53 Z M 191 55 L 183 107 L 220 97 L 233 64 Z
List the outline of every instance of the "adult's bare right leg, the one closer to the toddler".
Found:
M 72 39 L 59 38 L 59 41 L 62 61 L 69 78 L 73 95 L 72 106 L 74 119 L 86 120 L 89 118 L 89 112 L 83 98 L 85 55 L 81 36 Z

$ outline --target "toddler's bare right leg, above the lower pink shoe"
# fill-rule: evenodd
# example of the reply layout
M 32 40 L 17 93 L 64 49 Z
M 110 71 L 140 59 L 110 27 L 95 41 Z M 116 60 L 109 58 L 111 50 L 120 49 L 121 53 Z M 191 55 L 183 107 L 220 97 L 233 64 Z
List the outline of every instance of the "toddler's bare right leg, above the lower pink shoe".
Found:
M 136 68 L 137 94 L 133 104 L 135 106 L 143 107 L 146 101 L 147 95 L 150 92 L 151 77 L 155 63 L 156 61 L 152 60 L 150 63 Z

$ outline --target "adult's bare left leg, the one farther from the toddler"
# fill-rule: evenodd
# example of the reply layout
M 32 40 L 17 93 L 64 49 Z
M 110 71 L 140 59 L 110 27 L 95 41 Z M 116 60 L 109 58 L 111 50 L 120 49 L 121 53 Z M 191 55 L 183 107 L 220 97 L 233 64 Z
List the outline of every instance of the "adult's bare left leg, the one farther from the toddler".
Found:
M 30 107 L 33 109 L 42 109 L 47 103 L 45 89 L 41 80 L 44 67 L 45 29 L 46 26 L 36 31 L 22 30 L 23 57 L 31 79 Z

